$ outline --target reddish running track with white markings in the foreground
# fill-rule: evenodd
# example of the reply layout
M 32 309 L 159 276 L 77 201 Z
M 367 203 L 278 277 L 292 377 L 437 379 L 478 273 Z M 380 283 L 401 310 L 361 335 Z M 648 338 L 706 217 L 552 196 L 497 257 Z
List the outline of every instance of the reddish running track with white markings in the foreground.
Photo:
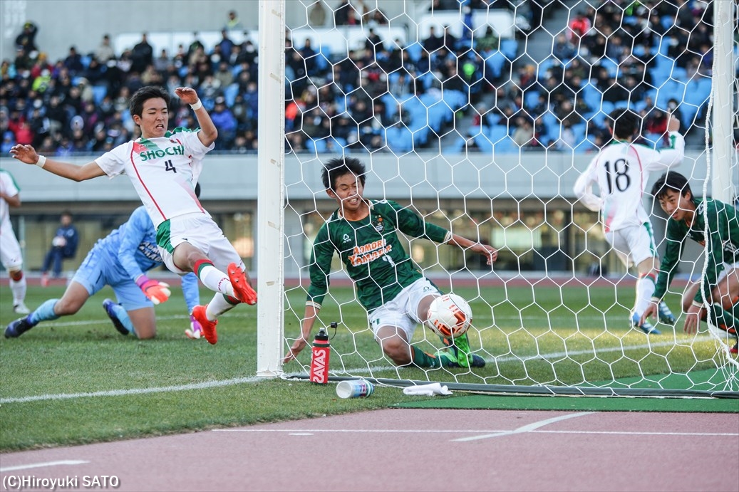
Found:
M 115 476 L 107 490 L 738 491 L 738 457 L 739 414 L 386 409 L 6 453 L 0 477 L 2 490 Z

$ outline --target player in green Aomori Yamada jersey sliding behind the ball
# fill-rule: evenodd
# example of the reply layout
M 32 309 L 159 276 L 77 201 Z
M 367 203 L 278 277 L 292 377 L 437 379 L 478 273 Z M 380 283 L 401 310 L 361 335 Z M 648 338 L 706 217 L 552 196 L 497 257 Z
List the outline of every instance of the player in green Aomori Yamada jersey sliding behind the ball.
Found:
M 457 234 L 424 222 L 417 213 L 395 202 L 363 197 L 366 171 L 352 157 L 338 157 L 321 172 L 329 197 L 339 208 L 321 226 L 310 255 L 308 289 L 302 333 L 290 347 L 284 362 L 290 362 L 305 348 L 310 331 L 328 292 L 334 251 L 347 267 L 359 302 L 367 310 L 369 326 L 383 352 L 398 366 L 483 367 L 485 360 L 471 354 L 467 335 L 444 340 L 449 349 L 432 355 L 410 344 L 418 324 L 440 291 L 412 265 L 398 239 L 398 232 L 425 237 L 441 244 L 457 245 L 486 256 L 488 264 L 497 251 Z

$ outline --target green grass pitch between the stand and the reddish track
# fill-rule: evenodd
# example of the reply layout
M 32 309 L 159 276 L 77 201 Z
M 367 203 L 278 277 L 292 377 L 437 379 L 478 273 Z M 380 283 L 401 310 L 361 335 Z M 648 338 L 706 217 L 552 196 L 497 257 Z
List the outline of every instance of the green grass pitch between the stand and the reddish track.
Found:
M 0 295 L 0 324 L 17 316 L 10 307 L 7 285 Z M 37 307 L 58 297 L 61 287 L 30 287 L 27 304 Z M 685 375 L 715 369 L 723 361 L 712 341 L 673 335 L 647 338 L 628 330 L 627 308 L 633 289 L 485 288 L 460 289 L 471 299 L 475 329 L 471 343 L 485 356 L 484 369 L 396 369 L 381 354 L 366 328 L 364 311 L 347 288 L 333 288 L 321 322 L 340 320 L 331 341 L 331 369 L 336 374 L 372 375 L 413 380 L 491 384 L 613 383 L 631 377 L 633 384 L 658 386 L 664 375 Z M 137 341 L 115 331 L 101 307 L 111 290 L 91 298 L 75 316 L 44 322 L 18 339 L 0 339 L 0 451 L 51 445 L 195 431 L 222 426 L 292 420 L 361 409 L 385 408 L 412 400 L 399 389 L 378 388 L 370 398 L 341 400 L 335 386 L 303 381 L 257 380 L 256 308 L 240 306 L 222 316 L 219 342 L 185 338 L 185 304 L 174 289 L 170 301 L 157 307 L 157 339 Z M 203 300 L 210 294 L 202 292 Z M 508 300 L 507 300 L 508 299 Z M 302 313 L 304 295 L 291 290 L 287 306 Z M 677 306 L 674 299 L 672 305 Z M 593 306 L 601 306 L 603 312 Z M 681 321 L 678 321 L 678 324 Z M 551 327 L 551 329 L 550 329 Z M 286 315 L 287 337 L 299 333 L 299 320 Z M 332 333 L 333 334 L 333 333 Z M 428 330 L 417 329 L 416 341 L 434 350 L 440 342 Z M 484 348 L 480 348 L 484 347 Z M 595 350 L 594 350 L 595 349 Z M 569 357 L 565 356 L 565 352 Z M 303 372 L 310 361 L 306 350 L 285 367 Z M 494 362 L 492 362 L 494 361 Z M 721 374 L 717 370 L 717 374 Z M 253 378 L 228 386 L 182 391 L 84 396 L 64 399 L 7 401 L 39 395 L 115 392 Z M 713 383 L 715 389 L 725 378 Z M 735 380 L 734 380 L 735 383 Z M 619 384 L 619 383 L 615 383 Z M 622 383 L 621 383 L 622 384 Z M 631 382 L 630 382 L 631 384 Z M 736 388 L 733 388 L 736 389 Z

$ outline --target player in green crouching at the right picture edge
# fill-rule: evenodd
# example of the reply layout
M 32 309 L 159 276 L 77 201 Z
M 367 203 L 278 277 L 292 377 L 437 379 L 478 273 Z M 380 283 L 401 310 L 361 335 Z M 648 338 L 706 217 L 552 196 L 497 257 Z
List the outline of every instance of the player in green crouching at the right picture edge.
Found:
M 675 267 L 690 238 L 706 251 L 706 266 L 700 282 L 688 284 L 683 294 L 687 312 L 684 331 L 695 333 L 699 320 L 710 319 L 736 335 L 739 319 L 739 213 L 732 205 L 715 199 L 696 199 L 686 177 L 669 172 L 653 185 L 652 194 L 667 213 L 667 248 L 657 279 L 652 304 L 643 318 L 654 315 L 656 303 L 667 292 Z M 707 237 L 707 239 L 706 239 Z M 704 299 L 707 301 L 704 304 Z M 737 352 L 734 345 L 732 352 Z

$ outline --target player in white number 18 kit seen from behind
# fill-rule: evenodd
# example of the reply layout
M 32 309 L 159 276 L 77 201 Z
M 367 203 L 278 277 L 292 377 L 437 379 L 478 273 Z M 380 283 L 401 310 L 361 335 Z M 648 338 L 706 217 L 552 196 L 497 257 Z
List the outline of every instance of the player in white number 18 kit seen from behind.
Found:
M 664 172 L 682 162 L 685 140 L 678 132 L 680 120 L 672 115 L 667 125 L 670 147 L 660 150 L 633 143 L 641 126 L 635 113 L 616 109 L 608 116 L 613 143 L 593 157 L 575 182 L 574 193 L 590 210 L 600 212 L 605 238 L 626 267 L 635 264 L 638 269 L 630 324 L 647 334 L 658 335 L 658 329 L 648 321 L 641 323 L 659 270 L 652 225 L 642 199 L 651 171 Z M 598 185 L 599 194 L 593 191 L 593 185 Z M 660 304 L 659 318 L 667 324 L 675 323 L 664 303 Z

